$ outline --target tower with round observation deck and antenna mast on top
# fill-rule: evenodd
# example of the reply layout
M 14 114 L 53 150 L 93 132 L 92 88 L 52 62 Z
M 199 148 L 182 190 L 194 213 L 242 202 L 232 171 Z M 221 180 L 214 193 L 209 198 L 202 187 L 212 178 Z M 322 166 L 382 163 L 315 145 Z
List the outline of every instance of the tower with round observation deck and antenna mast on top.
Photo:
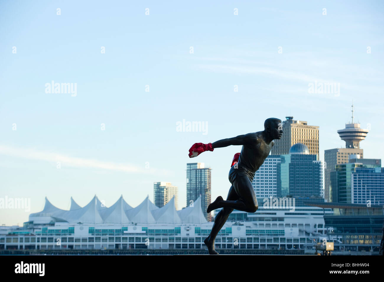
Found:
M 352 123 L 345 125 L 345 129 L 338 130 L 341 140 L 344 140 L 345 148 L 336 148 L 324 150 L 325 172 L 324 172 L 324 193 L 325 200 L 331 201 L 331 176 L 330 173 L 334 172 L 336 165 L 349 162 L 350 155 L 359 155 L 363 158 L 363 150 L 360 149 L 360 141 L 364 140 L 367 136 L 368 130 L 361 129 L 359 123 L 354 123 L 354 109 L 352 105 Z M 284 134 L 283 134 L 284 135 Z

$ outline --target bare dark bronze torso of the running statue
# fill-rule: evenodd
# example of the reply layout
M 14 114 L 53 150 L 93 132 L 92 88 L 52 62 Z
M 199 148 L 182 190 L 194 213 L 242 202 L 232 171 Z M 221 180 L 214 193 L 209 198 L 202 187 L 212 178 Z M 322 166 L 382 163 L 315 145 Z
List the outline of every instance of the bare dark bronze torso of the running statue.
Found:
M 238 159 L 238 166 L 244 166 L 255 173 L 264 163 L 266 157 L 268 157 L 274 142 L 272 141 L 267 144 L 263 139 L 262 131 L 248 133 L 246 135 L 251 141 L 243 145 Z

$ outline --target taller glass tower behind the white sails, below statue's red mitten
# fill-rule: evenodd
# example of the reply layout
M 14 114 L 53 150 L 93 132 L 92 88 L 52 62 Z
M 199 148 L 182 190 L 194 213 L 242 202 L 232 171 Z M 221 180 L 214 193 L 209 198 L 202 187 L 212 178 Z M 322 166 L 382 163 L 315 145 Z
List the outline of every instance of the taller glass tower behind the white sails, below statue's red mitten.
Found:
M 201 208 L 207 221 L 211 214 L 207 213 L 211 203 L 211 169 L 204 163 L 187 163 L 187 207 L 201 195 Z

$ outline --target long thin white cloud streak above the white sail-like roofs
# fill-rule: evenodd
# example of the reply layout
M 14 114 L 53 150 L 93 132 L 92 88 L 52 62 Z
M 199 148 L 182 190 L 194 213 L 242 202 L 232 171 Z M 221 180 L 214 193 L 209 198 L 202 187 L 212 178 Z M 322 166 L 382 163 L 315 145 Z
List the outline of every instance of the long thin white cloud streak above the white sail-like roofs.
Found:
M 60 162 L 62 166 L 69 167 L 98 168 L 103 170 L 114 170 L 129 173 L 145 173 L 159 175 L 172 174 L 167 170 L 158 170 L 156 168 L 140 168 L 129 164 L 105 162 L 89 158 L 71 157 L 60 153 L 42 152 L 30 148 L 15 148 L 5 145 L 0 145 L 0 154 L 17 158 L 26 158 L 30 160 L 46 161 L 55 163 L 55 165 L 57 162 Z

